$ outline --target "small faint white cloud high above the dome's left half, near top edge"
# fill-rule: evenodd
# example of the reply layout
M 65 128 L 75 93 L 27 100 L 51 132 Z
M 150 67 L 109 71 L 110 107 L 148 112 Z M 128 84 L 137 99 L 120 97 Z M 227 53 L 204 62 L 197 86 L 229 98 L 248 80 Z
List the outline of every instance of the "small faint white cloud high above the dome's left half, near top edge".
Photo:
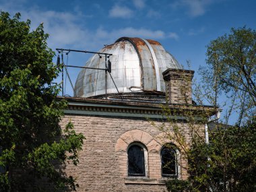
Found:
M 109 11 L 110 18 L 131 18 L 133 11 L 125 6 L 114 5 Z

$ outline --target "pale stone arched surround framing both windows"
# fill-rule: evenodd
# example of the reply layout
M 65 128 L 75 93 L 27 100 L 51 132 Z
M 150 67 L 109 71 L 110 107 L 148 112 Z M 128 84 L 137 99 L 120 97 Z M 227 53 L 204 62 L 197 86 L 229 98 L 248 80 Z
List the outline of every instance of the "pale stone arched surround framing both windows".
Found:
M 156 135 L 156 137 L 152 137 L 146 131 L 141 130 L 131 130 L 123 133 L 117 139 L 117 143 L 115 145 L 115 152 L 117 153 L 117 160 L 119 164 L 119 171 L 123 178 L 129 178 L 128 176 L 128 156 L 127 150 L 129 149 L 129 145 L 131 143 L 142 143 L 143 146 L 147 149 L 148 154 L 148 162 L 147 167 L 148 174 L 146 174 L 146 178 L 149 179 L 163 179 L 162 177 L 162 163 L 161 163 L 161 150 L 166 143 L 173 143 L 174 146 L 179 148 L 179 144 L 175 141 L 171 141 L 164 135 L 164 133 L 160 133 Z M 179 148 L 181 150 L 181 148 Z M 179 179 L 187 179 L 188 174 L 185 167 L 187 166 L 187 160 L 185 158 L 185 153 L 181 150 L 178 156 L 179 170 L 178 170 L 178 178 Z

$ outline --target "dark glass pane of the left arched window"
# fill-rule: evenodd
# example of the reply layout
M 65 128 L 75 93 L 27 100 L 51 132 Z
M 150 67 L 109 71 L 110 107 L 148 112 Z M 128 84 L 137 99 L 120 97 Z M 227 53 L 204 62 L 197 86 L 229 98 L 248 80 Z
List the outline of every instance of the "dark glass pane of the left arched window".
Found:
M 145 176 L 144 151 L 140 146 L 128 150 L 128 176 Z

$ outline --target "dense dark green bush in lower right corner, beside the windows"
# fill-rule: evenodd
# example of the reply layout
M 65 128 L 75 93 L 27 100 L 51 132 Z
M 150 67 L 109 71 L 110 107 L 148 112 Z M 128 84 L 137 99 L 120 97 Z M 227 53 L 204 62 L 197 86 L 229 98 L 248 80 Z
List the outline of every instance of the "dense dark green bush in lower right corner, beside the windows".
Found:
M 256 121 L 214 129 L 209 145 L 193 141 L 189 151 L 193 191 L 256 191 Z

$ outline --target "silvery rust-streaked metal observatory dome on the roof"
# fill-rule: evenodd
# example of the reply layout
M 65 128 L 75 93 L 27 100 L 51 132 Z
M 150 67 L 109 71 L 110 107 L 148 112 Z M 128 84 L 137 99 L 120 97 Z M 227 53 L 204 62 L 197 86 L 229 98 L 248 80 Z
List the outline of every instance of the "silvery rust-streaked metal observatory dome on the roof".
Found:
M 111 75 L 121 94 L 165 92 L 162 72 L 168 68 L 182 69 L 177 60 L 155 41 L 143 38 L 119 38 L 114 44 L 105 46 L 100 53 L 113 54 Z M 105 57 L 93 55 L 85 67 L 105 68 Z M 75 82 L 77 97 L 98 97 L 117 94 L 115 84 L 105 71 L 82 69 Z M 106 84 L 105 84 L 106 82 Z

